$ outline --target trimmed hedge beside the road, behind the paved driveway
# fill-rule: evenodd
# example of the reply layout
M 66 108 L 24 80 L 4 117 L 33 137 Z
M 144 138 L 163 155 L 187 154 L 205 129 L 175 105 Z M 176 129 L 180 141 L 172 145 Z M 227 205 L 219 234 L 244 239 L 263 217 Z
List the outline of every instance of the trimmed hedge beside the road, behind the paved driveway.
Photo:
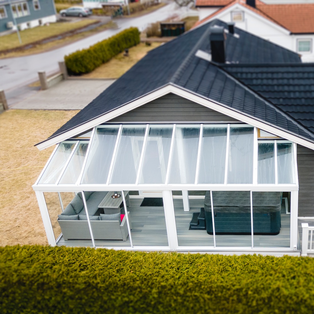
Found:
M 64 57 L 70 75 L 89 73 L 101 64 L 126 48 L 133 47 L 140 42 L 140 32 L 131 27 L 127 30 L 90 46 L 88 49 L 75 51 Z

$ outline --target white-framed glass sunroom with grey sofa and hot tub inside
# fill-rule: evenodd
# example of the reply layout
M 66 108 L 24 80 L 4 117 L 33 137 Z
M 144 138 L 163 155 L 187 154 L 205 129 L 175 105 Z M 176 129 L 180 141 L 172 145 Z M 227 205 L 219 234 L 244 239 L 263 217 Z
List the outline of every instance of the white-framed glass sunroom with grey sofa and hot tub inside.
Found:
M 296 144 L 248 124 L 98 125 L 33 188 L 50 245 L 297 249 Z

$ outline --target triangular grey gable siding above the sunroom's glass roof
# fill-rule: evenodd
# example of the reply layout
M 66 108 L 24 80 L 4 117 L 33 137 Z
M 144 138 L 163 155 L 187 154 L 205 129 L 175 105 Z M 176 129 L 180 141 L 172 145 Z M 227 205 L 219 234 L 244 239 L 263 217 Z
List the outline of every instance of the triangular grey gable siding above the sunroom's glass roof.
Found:
M 168 94 L 118 116 L 110 122 L 239 122 L 191 100 Z

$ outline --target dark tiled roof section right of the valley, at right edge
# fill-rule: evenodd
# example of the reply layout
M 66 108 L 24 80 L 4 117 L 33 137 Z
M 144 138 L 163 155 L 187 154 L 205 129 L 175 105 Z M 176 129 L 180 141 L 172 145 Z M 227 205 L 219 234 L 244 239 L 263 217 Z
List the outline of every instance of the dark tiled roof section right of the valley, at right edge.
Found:
M 314 132 L 314 63 L 224 68 Z

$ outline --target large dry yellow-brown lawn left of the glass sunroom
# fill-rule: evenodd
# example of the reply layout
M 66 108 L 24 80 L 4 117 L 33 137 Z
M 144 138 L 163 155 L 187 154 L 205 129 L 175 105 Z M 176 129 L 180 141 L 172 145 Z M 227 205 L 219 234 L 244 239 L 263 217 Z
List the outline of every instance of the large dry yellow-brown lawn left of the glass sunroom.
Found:
M 54 147 L 39 151 L 34 144 L 77 112 L 9 110 L 0 115 L 0 246 L 48 243 L 32 185 Z

